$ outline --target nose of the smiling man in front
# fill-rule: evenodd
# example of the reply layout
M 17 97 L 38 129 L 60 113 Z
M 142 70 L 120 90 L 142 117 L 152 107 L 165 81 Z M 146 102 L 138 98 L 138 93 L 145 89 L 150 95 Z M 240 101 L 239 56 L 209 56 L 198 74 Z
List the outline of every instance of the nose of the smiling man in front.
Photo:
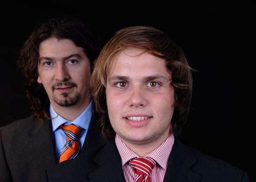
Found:
M 142 86 L 136 86 L 130 89 L 129 107 L 138 108 L 147 105 L 146 92 Z

